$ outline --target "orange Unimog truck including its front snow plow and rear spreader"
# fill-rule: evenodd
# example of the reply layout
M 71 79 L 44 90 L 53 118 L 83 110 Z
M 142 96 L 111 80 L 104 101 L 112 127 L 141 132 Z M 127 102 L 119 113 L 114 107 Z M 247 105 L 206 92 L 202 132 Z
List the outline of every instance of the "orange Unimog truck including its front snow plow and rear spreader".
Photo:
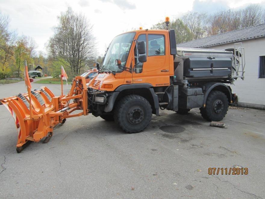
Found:
M 42 87 L 0 99 L 16 123 L 17 152 L 44 137 L 47 143 L 57 124 L 89 113 L 114 120 L 127 133 L 144 130 L 153 114 L 164 114 L 160 109 L 183 114 L 200 108 L 206 120 L 222 120 L 229 104 L 237 105 L 229 84 L 244 79 L 244 48 L 176 48 L 175 36 L 174 30 L 122 33 L 101 65 L 95 63 L 97 71 L 89 71 L 97 73 L 89 83 L 84 74 L 73 79 L 66 95 Z

